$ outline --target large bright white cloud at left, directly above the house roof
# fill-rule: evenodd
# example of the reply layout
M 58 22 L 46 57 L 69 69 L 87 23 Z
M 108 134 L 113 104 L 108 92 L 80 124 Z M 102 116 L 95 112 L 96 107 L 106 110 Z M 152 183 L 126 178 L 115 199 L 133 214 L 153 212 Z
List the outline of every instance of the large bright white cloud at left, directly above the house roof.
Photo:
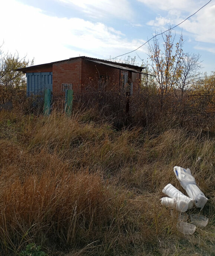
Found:
M 121 31 L 100 22 L 50 17 L 38 8 L 15 0 L 4 1 L 0 24 L 4 24 L 0 42 L 4 40 L 5 51 L 17 50 L 20 56 L 35 57 L 35 64 L 79 55 L 108 58 L 131 51 L 144 42 L 139 39 L 129 41 Z

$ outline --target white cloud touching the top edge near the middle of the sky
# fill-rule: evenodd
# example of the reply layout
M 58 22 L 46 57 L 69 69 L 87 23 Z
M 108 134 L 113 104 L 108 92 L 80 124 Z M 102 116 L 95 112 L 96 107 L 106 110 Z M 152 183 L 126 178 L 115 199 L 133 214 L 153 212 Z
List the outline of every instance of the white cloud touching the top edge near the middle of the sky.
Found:
M 55 0 L 67 4 L 68 7 L 78 7 L 84 13 L 94 18 L 114 16 L 123 20 L 132 20 L 134 12 L 128 0 Z

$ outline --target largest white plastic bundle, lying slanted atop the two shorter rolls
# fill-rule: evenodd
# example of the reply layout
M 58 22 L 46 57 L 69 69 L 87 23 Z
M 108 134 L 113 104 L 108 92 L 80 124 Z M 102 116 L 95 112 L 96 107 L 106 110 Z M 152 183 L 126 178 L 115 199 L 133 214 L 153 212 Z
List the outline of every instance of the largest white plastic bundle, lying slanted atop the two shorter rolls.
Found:
M 203 208 L 208 198 L 200 191 L 196 185 L 194 177 L 191 175 L 190 169 L 185 170 L 182 167 L 175 166 L 173 168 L 176 178 L 179 180 L 182 188 L 184 188 L 190 198 L 194 199 L 196 207 Z

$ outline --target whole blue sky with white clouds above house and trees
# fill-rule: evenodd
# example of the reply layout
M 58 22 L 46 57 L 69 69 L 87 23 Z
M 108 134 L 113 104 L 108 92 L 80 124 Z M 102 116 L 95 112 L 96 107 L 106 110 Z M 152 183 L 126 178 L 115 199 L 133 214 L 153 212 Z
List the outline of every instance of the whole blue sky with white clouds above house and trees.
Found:
M 164 32 L 209 0 L 4 0 L 0 49 L 34 64 L 72 57 L 115 58 Z M 200 54 L 202 72 L 215 71 L 215 0 L 173 29 L 183 52 Z M 162 45 L 162 36 L 158 36 Z M 152 43 L 150 41 L 150 43 Z M 147 60 L 148 43 L 115 59 Z

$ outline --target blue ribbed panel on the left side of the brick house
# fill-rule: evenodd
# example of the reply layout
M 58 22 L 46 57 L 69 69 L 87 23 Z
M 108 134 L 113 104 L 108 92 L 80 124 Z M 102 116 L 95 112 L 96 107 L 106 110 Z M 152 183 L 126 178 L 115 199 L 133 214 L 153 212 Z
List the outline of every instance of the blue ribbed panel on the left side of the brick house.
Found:
M 26 73 L 27 95 L 43 95 L 45 89 L 52 92 L 52 72 Z

